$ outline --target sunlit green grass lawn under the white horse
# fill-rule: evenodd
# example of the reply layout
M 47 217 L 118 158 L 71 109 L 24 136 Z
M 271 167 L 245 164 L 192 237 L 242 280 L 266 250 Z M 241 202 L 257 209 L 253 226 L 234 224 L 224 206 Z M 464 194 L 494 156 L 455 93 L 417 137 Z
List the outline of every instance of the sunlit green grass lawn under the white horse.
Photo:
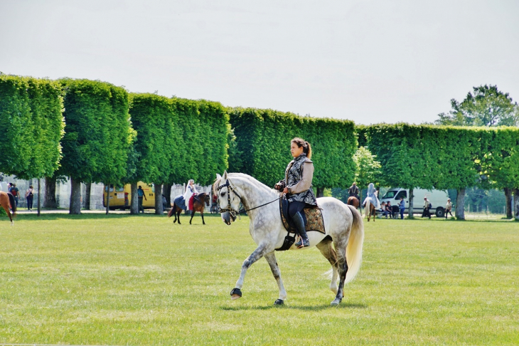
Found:
M 338 308 L 316 248 L 264 259 L 248 219 L 151 214 L 0 219 L 0 343 L 518 345 L 519 223 L 365 223 L 363 264 Z

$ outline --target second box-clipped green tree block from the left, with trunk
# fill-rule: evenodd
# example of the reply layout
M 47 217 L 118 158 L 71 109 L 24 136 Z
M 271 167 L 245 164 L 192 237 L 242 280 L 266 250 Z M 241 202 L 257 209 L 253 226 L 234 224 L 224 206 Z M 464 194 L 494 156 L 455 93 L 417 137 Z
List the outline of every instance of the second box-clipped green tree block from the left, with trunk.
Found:
M 70 177 L 70 213 L 80 214 L 81 182 L 121 181 L 134 136 L 128 94 L 110 83 L 60 80 L 65 95 L 65 135 L 60 174 Z

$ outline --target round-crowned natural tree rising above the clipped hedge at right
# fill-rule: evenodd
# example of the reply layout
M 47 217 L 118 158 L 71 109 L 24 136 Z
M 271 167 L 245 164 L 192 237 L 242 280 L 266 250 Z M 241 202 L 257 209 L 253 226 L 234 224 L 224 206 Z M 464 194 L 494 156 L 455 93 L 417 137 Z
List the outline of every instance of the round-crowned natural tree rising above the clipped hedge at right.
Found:
M 481 85 L 473 88 L 459 103 L 451 100 L 451 111 L 440 113 L 438 125 L 459 126 L 518 126 L 519 108 L 508 93 L 496 85 Z

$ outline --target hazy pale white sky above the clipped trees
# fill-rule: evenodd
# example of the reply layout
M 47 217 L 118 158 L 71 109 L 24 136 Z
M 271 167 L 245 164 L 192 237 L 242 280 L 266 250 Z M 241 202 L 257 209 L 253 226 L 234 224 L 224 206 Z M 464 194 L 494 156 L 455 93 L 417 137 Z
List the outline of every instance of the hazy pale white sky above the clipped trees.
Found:
M 0 0 L 0 71 L 357 123 L 519 100 L 519 1 Z

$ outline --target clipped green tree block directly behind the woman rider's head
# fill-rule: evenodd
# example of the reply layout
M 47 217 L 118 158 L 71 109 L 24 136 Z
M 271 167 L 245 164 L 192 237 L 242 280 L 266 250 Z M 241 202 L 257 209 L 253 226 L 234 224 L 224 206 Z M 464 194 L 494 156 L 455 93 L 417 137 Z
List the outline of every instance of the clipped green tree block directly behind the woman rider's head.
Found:
M 292 113 L 234 108 L 230 125 L 236 148 L 229 157 L 231 172 L 252 175 L 268 186 L 284 177 L 292 159 L 290 140 L 301 137 L 312 146 L 314 187 L 344 187 L 353 181 L 357 141 L 353 122 L 300 117 Z

